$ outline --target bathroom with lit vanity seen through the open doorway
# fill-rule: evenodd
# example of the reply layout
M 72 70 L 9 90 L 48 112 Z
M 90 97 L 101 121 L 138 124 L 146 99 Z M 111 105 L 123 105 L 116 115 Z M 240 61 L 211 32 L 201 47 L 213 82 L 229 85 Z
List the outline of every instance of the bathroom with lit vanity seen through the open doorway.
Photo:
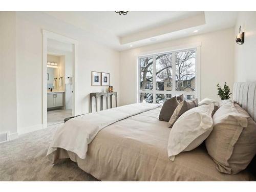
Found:
M 72 116 L 72 45 L 48 39 L 47 125 L 62 123 Z

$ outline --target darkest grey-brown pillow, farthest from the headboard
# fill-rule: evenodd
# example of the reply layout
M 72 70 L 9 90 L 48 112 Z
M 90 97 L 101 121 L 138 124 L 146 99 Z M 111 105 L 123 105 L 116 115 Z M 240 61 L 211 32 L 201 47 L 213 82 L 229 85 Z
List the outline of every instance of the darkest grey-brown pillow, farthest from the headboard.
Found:
M 179 97 L 179 100 L 180 99 L 181 98 Z M 179 105 L 179 101 L 177 100 L 177 98 L 175 96 L 166 100 L 163 103 L 162 109 L 160 111 L 160 114 L 158 117 L 159 120 L 160 121 L 169 121 L 170 117 L 173 115 L 174 110 L 177 108 L 178 105 Z

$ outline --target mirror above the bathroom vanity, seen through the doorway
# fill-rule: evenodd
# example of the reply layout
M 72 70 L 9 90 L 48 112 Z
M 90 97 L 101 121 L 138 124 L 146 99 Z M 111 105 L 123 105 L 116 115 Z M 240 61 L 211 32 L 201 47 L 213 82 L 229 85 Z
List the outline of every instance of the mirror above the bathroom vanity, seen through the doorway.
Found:
M 59 68 L 47 67 L 47 89 L 57 89 L 59 81 Z

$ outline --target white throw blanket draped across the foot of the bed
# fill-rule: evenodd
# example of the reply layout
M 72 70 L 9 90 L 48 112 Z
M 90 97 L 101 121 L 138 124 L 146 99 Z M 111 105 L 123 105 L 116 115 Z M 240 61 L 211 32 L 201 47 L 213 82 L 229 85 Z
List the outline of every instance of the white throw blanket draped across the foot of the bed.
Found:
M 86 158 L 88 144 L 92 142 L 101 129 L 159 106 L 160 104 L 134 103 L 70 119 L 56 131 L 47 155 L 57 148 L 63 148 L 84 159 Z

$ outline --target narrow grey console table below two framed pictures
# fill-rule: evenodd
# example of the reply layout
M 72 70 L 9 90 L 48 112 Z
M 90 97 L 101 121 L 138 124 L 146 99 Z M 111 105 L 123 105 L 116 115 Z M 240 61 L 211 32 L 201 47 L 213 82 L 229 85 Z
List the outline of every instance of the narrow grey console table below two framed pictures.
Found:
M 92 107 L 93 107 L 93 103 L 92 103 L 92 98 L 95 97 L 95 108 L 96 111 L 98 110 L 98 102 L 97 102 L 97 98 L 101 97 L 100 99 L 100 110 L 103 110 L 103 97 L 106 97 L 106 109 L 108 108 L 108 98 L 110 96 L 110 108 L 112 108 L 112 96 L 115 95 L 116 96 L 116 106 L 117 106 L 117 92 L 95 92 L 95 93 L 90 93 L 90 104 L 91 104 L 91 113 L 92 113 Z

